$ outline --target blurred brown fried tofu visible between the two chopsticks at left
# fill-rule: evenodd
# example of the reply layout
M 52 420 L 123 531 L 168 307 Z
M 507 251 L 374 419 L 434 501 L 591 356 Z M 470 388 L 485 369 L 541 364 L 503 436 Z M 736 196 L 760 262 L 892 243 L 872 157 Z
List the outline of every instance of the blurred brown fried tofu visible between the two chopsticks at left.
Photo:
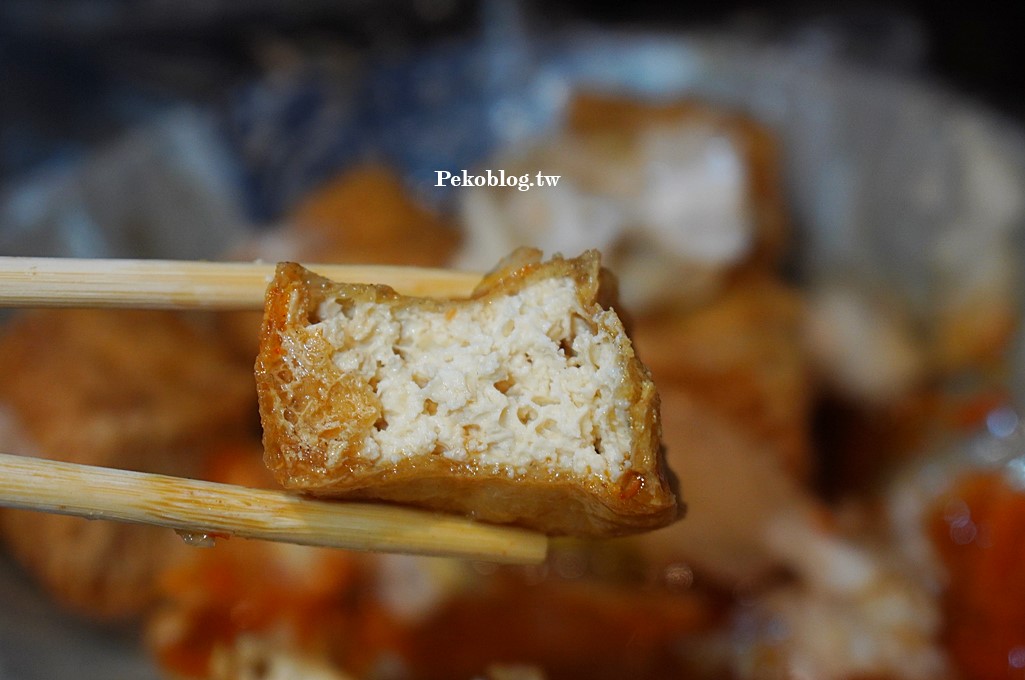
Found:
M 199 440 L 244 422 L 255 398 L 251 374 L 216 334 L 174 313 L 29 313 L 0 343 L 0 399 L 53 457 L 74 459 L 83 443 L 124 450 Z M 145 467 L 146 453 L 134 455 L 125 467 Z

